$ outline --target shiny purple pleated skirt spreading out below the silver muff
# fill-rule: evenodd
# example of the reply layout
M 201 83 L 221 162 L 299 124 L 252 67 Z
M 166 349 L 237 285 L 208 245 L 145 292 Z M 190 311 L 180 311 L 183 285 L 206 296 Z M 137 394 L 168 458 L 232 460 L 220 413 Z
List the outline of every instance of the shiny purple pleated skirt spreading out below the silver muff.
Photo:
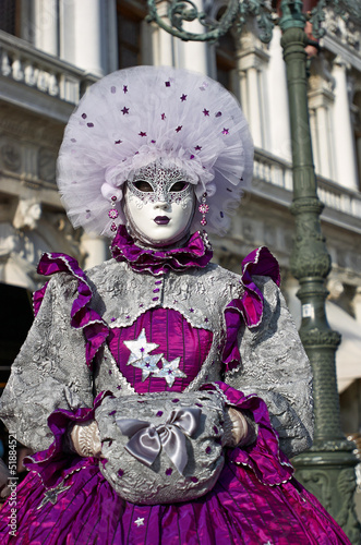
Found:
M 16 535 L 11 501 L 0 511 L 0 542 L 16 545 L 326 545 L 350 544 L 312 494 L 294 479 L 262 484 L 228 461 L 212 492 L 191 502 L 136 506 L 124 501 L 87 459 L 58 495 L 45 495 L 31 472 L 17 487 Z M 13 532 L 14 533 L 14 532 Z

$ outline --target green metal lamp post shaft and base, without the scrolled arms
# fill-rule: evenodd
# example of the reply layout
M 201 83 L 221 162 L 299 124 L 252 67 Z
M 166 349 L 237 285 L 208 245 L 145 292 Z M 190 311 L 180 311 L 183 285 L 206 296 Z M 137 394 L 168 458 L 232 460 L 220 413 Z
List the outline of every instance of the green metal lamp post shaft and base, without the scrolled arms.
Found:
M 346 440 L 339 419 L 335 352 L 340 342 L 330 330 L 326 314 L 325 279 L 330 258 L 321 232 L 323 205 L 316 193 L 306 96 L 308 37 L 302 1 L 281 2 L 281 45 L 287 70 L 292 137 L 293 202 L 296 238 L 291 270 L 300 282 L 302 304 L 300 336 L 310 358 L 314 377 L 315 435 L 311 449 L 293 459 L 297 477 L 315 494 L 338 521 L 352 543 L 360 543 L 353 494 L 357 460 L 353 444 Z

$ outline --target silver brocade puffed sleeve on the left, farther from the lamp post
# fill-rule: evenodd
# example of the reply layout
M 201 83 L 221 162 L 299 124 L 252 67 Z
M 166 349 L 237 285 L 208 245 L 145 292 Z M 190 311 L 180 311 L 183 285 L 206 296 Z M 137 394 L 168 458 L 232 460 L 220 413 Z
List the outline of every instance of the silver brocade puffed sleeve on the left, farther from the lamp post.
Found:
M 48 282 L 41 299 L 0 400 L 0 417 L 9 431 L 35 451 L 47 449 L 53 440 L 47 423 L 53 411 L 93 407 L 87 340 L 82 327 L 86 322 L 85 299 L 80 294 L 79 278 L 60 271 Z M 72 327 L 71 320 L 76 319 L 79 327 Z

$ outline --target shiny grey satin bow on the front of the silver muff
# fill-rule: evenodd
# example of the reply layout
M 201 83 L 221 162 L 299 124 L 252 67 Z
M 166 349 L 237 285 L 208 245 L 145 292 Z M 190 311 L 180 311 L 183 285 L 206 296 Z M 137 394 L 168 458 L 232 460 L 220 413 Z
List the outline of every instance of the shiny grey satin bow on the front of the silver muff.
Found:
M 192 437 L 198 427 L 202 411 L 197 407 L 173 409 L 164 424 L 135 419 L 117 420 L 123 435 L 130 437 L 125 450 L 140 462 L 151 467 L 161 448 L 182 475 L 188 463 L 185 435 Z

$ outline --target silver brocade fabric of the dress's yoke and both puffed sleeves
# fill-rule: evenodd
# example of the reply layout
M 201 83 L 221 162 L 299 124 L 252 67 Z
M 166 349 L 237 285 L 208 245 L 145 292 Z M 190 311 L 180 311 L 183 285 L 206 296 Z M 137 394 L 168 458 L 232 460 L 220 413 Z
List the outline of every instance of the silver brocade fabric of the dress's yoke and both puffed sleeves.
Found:
M 169 272 L 156 278 L 163 279 L 158 301 L 153 300 L 155 277 L 134 272 L 125 263 L 110 259 L 88 270 L 87 277 L 94 292 L 92 306 L 112 327 L 129 326 L 160 304 L 180 312 L 192 326 L 213 331 L 209 353 L 186 391 L 222 379 L 244 393 L 256 392 L 268 405 L 282 450 L 294 456 L 310 446 L 310 363 L 279 289 L 270 279 L 254 277 L 264 292 L 263 319 L 256 328 L 241 327 L 242 363 L 222 376 L 219 347 L 226 336 L 224 311 L 232 299 L 242 295 L 238 275 L 214 264 L 204 269 Z M 67 274 L 50 280 L 1 398 L 1 419 L 21 443 L 34 450 L 51 444 L 47 417 L 55 409 L 92 407 L 94 395 L 101 390 L 111 390 L 116 396 L 136 395 L 107 348 L 99 352 L 94 377 L 89 373 L 83 334 L 70 326 L 76 288 L 76 280 Z M 113 316 L 117 319 L 111 322 Z

